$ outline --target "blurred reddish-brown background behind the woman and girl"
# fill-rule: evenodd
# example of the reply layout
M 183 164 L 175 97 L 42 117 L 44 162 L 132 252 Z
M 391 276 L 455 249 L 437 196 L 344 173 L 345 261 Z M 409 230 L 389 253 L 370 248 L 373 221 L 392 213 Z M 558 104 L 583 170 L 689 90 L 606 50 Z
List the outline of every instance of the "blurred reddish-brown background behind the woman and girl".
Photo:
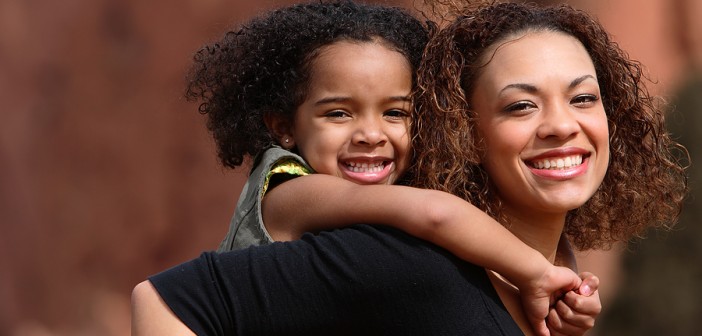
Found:
M 128 335 L 134 285 L 216 248 L 246 170 L 218 165 L 184 74 L 227 28 L 293 2 L 0 0 L 0 335 Z M 566 2 L 646 65 L 700 158 L 702 2 Z M 673 232 L 579 255 L 602 278 L 592 335 L 702 335 L 695 201 Z

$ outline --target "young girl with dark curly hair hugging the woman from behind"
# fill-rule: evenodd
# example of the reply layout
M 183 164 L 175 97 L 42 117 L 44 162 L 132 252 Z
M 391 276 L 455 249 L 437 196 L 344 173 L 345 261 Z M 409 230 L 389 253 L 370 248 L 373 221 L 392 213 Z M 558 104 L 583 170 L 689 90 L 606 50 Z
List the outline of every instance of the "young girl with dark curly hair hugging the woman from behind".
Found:
M 393 185 L 411 161 L 410 92 L 426 39 L 396 8 L 317 3 L 254 19 L 197 54 L 188 95 L 203 101 L 222 163 L 255 158 L 219 250 L 356 223 L 394 226 L 504 275 L 540 333 L 551 294 L 579 288 L 563 321 L 549 316 L 584 332 L 599 313 L 598 296 L 586 298 L 596 278 L 580 286 L 458 197 Z

